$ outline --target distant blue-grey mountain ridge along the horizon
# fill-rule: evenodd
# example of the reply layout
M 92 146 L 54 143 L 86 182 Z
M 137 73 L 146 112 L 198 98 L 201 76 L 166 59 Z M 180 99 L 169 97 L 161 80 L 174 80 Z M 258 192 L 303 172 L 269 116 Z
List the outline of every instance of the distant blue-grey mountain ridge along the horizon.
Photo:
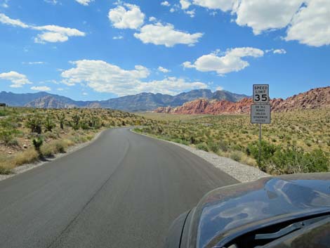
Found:
M 161 93 L 139 93 L 132 96 L 122 96 L 109 100 L 76 101 L 65 96 L 47 92 L 11 93 L 2 91 L 0 102 L 11 106 L 64 108 L 64 107 L 103 107 L 124 111 L 151 111 L 157 107 L 179 106 L 198 98 L 237 101 L 248 96 L 231 93 L 230 91 L 215 91 L 209 89 L 192 90 L 176 96 Z

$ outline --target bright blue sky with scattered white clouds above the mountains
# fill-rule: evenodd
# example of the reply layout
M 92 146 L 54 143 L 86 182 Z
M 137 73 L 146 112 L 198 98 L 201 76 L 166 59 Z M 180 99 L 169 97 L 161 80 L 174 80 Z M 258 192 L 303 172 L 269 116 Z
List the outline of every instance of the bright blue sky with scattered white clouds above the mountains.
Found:
M 328 0 L 0 0 L 0 90 L 105 100 L 330 85 Z

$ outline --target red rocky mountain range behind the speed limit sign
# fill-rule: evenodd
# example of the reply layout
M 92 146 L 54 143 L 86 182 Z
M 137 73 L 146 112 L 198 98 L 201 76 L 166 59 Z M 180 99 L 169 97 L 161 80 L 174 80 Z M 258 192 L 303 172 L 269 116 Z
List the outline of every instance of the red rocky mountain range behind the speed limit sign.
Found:
M 197 99 L 178 107 L 158 107 L 154 112 L 172 114 L 247 114 L 250 112 L 252 98 L 242 98 L 237 102 L 229 100 Z M 285 100 L 275 98 L 270 100 L 272 112 L 287 112 L 291 110 L 315 109 L 330 107 L 330 86 L 311 89 Z

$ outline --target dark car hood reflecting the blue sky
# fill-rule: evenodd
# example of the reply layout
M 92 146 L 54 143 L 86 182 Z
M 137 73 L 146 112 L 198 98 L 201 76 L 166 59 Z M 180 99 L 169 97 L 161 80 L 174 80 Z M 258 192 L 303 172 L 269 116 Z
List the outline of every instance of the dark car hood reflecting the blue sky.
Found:
M 209 192 L 197 205 L 190 247 L 222 247 L 233 235 L 253 226 L 326 211 L 330 211 L 330 174 L 262 178 L 230 185 Z

